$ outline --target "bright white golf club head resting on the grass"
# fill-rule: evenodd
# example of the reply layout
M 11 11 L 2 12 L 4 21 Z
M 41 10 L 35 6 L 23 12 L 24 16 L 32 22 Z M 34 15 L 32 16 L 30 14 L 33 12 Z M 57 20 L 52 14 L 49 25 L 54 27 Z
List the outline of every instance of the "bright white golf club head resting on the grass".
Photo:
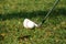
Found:
M 24 19 L 23 26 L 25 29 L 34 29 L 35 26 L 37 28 L 38 25 L 29 19 Z

